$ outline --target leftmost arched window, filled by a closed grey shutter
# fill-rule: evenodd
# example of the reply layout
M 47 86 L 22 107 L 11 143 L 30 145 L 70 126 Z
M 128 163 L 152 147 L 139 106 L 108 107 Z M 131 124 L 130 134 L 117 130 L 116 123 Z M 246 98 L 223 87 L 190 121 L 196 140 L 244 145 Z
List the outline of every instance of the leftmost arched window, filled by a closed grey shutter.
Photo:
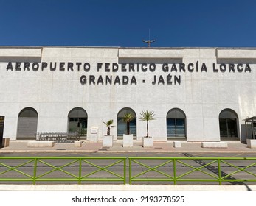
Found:
M 35 138 L 38 129 L 38 112 L 26 107 L 18 114 L 17 139 Z

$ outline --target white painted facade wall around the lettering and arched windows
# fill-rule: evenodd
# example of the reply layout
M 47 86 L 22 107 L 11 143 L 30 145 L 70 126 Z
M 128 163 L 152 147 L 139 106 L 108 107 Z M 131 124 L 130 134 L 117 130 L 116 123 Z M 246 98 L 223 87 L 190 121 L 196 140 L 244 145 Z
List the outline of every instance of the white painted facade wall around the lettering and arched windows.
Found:
M 155 140 L 166 140 L 166 116 L 177 107 L 187 116 L 188 141 L 219 141 L 218 116 L 221 110 L 230 108 L 238 114 L 239 127 L 243 119 L 256 114 L 256 49 L 215 48 L 83 48 L 38 47 L 0 48 L 0 115 L 5 116 L 4 137 L 16 138 L 18 113 L 24 107 L 38 112 L 38 132 L 65 132 L 67 116 L 74 107 L 83 107 L 88 118 L 88 131 L 99 128 L 99 137 L 105 135 L 103 121 L 114 119 L 116 127 L 111 134 L 117 137 L 117 113 L 123 107 L 131 107 L 137 116 L 137 139 L 146 134 L 146 123 L 139 121 L 142 110 L 153 110 L 156 120 L 149 123 L 149 132 Z M 217 56 L 217 57 L 216 57 Z M 32 71 L 38 61 L 65 63 L 65 71 Z M 13 71 L 7 71 L 8 62 Z M 15 71 L 15 62 L 21 63 L 21 71 Z M 30 62 L 30 71 L 23 71 L 24 62 Z M 89 72 L 67 71 L 67 63 L 90 63 Z M 180 85 L 152 85 L 154 75 L 167 76 L 162 64 L 196 63 L 207 65 L 207 72 L 172 72 L 181 75 Z M 156 63 L 154 72 L 97 72 L 97 63 Z M 249 63 L 251 72 L 213 72 L 212 64 Z M 128 66 L 126 67 L 128 68 Z M 178 67 L 179 68 L 179 67 Z M 170 68 L 169 68 L 170 69 Z M 86 75 L 126 75 L 136 77 L 136 85 L 81 85 L 80 77 Z M 145 79 L 145 83 L 142 80 Z M 241 128 L 239 128 L 240 138 Z M 88 134 L 88 137 L 90 134 Z

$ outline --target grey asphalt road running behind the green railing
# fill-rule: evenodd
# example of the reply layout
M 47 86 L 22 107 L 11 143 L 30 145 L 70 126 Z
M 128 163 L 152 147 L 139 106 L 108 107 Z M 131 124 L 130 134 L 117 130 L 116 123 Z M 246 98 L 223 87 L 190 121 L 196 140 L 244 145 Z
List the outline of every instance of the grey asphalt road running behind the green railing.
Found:
M 5 153 L 1 154 L 1 157 L 255 157 L 255 154 L 245 154 L 245 153 L 44 153 L 44 152 L 33 152 L 33 153 Z M 27 161 L 27 160 L 26 160 Z M 21 178 L 32 176 L 34 171 L 34 162 L 26 163 L 23 166 L 21 164 L 25 163 L 24 160 L 1 160 L 0 159 L 0 183 L 10 183 L 10 181 L 1 181 L 1 178 Z M 108 167 L 111 163 L 116 160 L 89 160 L 89 163 L 83 162 L 82 169 L 79 171 L 78 162 L 71 163 L 72 160 L 45 160 L 44 163 L 37 163 L 37 177 L 43 175 L 44 178 L 69 178 L 77 177 L 80 172 L 82 176 L 90 174 L 90 178 L 104 178 L 110 180 L 111 178 L 116 178 L 117 175 L 123 175 L 123 163 L 118 163 L 114 166 Z M 149 181 L 149 179 L 167 179 L 167 176 L 173 177 L 173 162 L 166 163 L 166 160 L 136 160 L 139 163 L 133 162 L 131 176 L 135 179 L 145 179 L 143 181 L 134 181 L 134 184 L 173 184 L 171 182 L 165 181 Z M 187 181 L 176 182 L 177 184 L 213 184 L 216 185 L 218 182 L 193 182 L 191 179 L 211 179 L 212 177 L 218 177 L 218 165 L 217 162 L 211 163 L 212 160 L 181 160 L 176 162 L 176 177 L 181 179 L 188 179 Z M 96 167 L 93 165 L 97 165 Z M 161 165 L 159 167 L 159 165 Z M 7 165 L 8 167 L 4 166 Z M 63 165 L 66 165 L 63 167 Z M 129 170 L 128 161 L 126 164 L 126 181 L 128 182 Z M 145 166 L 146 165 L 146 166 Z M 252 165 L 249 168 L 246 166 Z M 19 166 L 18 168 L 16 168 Z M 148 167 L 147 167 L 148 166 Z M 235 166 L 235 167 L 234 167 Z M 103 168 L 108 168 L 108 171 L 104 171 Z M 201 168 L 199 170 L 198 168 Z M 246 168 L 246 171 L 243 171 Z M 4 171 L 7 171 L 5 173 Z M 92 174 L 95 170 L 97 173 Z M 49 171 L 50 172 L 48 174 Z M 72 175 L 70 175 L 72 174 Z M 221 163 L 221 177 L 229 176 L 231 180 L 256 180 L 256 161 L 248 160 L 232 160 L 228 163 Z M 15 182 L 17 184 L 31 184 L 31 182 Z M 66 183 L 44 181 L 37 182 L 37 184 L 59 184 Z M 77 183 L 77 182 L 69 182 Z M 83 182 L 89 183 L 89 182 Z M 92 181 L 90 183 L 102 183 L 97 181 Z M 109 183 L 109 182 L 108 182 Z M 111 182 L 119 183 L 122 182 Z M 255 184 L 255 182 L 223 182 L 223 184 Z

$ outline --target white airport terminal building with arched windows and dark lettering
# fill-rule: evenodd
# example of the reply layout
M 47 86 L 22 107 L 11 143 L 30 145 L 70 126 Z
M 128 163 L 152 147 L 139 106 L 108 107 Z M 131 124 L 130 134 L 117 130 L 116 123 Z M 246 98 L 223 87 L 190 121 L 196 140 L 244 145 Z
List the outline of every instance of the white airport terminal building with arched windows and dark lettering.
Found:
M 256 49 L 0 47 L 0 116 L 4 138 L 78 132 L 122 139 L 122 117 L 142 141 L 143 110 L 154 141 L 246 141 L 256 116 Z M 254 124 L 253 124 L 254 126 Z M 255 124 L 256 128 L 256 124 Z

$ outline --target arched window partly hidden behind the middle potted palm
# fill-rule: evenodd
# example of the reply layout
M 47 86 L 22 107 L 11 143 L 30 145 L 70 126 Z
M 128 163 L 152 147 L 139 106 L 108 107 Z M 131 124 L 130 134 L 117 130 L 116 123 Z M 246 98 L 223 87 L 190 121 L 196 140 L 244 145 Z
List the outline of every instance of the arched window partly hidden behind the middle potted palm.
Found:
M 126 134 L 126 123 L 123 121 L 123 117 L 126 113 L 131 113 L 134 119 L 130 122 L 130 134 L 136 136 L 136 113 L 131 108 L 125 107 L 117 114 L 117 138 L 122 138 L 123 134 Z

